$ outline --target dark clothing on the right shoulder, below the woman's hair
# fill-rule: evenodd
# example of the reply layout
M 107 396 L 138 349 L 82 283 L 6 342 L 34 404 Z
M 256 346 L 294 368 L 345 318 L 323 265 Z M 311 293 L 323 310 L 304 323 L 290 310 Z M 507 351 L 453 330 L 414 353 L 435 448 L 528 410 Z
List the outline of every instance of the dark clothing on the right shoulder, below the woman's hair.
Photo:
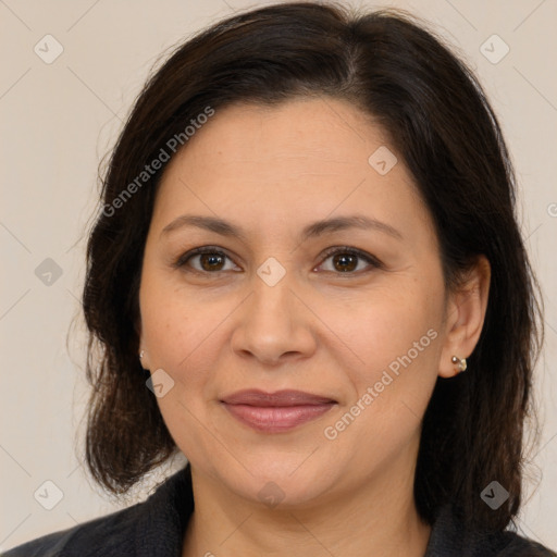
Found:
M 456 518 L 454 509 L 441 509 L 433 524 L 425 557 L 557 557 L 547 547 L 510 530 L 470 531 Z

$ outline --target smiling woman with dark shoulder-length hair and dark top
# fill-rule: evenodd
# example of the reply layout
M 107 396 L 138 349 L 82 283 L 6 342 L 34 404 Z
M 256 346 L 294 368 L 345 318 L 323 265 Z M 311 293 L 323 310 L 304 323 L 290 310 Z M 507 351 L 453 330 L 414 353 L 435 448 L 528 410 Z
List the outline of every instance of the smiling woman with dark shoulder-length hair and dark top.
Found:
M 84 309 L 94 478 L 188 465 L 7 555 L 553 555 L 506 531 L 541 339 L 513 201 L 481 87 L 408 16 L 281 4 L 183 45 Z

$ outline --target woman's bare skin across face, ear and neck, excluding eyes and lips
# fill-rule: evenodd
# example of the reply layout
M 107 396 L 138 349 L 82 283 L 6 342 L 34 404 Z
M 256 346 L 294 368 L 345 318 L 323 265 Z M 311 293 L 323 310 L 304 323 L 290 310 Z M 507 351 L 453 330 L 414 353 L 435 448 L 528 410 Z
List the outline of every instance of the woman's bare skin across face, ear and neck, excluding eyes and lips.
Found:
M 437 376 L 458 373 L 451 356 L 468 357 L 478 342 L 490 268 L 480 258 L 462 288 L 446 292 L 431 216 L 401 158 L 385 175 L 368 162 L 388 145 L 341 100 L 234 106 L 216 111 L 165 171 L 145 249 L 140 346 L 144 367 L 174 381 L 158 403 L 191 463 L 196 510 L 184 556 L 425 550 L 431 529 L 412 495 L 421 418 Z M 183 214 L 224 219 L 245 238 L 193 226 L 162 233 Z M 352 214 L 401 239 L 354 227 L 298 238 L 309 223 Z M 225 252 L 220 272 L 207 256 L 173 267 L 200 246 Z M 343 272 L 325 253 L 335 246 L 382 265 L 357 258 Z M 285 271 L 274 286 L 257 272 L 271 257 Z M 435 338 L 412 357 L 428 331 Z M 220 403 L 244 388 L 294 388 L 337 404 L 288 432 L 260 433 Z M 364 409 L 327 438 L 325 428 L 358 400 Z M 282 494 L 274 507 L 259 496 L 269 482 Z

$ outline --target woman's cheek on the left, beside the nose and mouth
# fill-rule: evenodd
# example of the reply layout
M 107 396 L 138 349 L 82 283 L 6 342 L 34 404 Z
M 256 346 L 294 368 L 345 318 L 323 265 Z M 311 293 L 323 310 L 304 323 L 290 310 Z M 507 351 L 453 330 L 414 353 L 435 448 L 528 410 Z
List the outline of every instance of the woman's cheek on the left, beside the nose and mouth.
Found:
M 230 342 L 227 318 L 240 301 L 237 296 L 193 292 L 156 268 L 146 269 L 140 289 L 143 341 L 151 372 L 162 369 L 174 381 L 169 394 L 158 399 L 171 431 L 184 420 L 195 422 L 194 417 L 207 423 L 208 403 L 226 374 L 220 359 Z

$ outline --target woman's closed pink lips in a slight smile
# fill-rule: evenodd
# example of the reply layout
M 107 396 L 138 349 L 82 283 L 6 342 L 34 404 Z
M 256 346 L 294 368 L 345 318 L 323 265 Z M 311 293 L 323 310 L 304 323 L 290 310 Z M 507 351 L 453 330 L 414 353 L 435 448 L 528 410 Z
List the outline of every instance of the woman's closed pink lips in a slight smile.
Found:
M 287 432 L 320 418 L 337 401 L 301 391 L 238 391 L 221 400 L 239 422 L 261 433 Z

